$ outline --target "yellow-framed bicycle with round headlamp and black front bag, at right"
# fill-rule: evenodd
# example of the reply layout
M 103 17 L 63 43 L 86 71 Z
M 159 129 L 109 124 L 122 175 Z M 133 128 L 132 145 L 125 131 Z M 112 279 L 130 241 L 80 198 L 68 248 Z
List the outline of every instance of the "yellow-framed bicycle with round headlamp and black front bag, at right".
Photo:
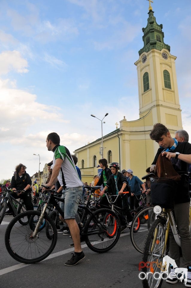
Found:
M 168 182 L 167 184 L 171 187 L 175 187 L 177 182 L 172 179 L 162 179 L 162 178 L 150 178 L 151 183 L 157 182 L 158 184 Z M 162 191 L 161 191 L 162 192 Z M 166 191 L 167 192 L 167 191 Z M 170 191 L 169 191 L 170 193 Z M 153 210 L 156 214 L 156 220 L 152 223 L 148 235 L 145 241 L 145 247 L 143 251 L 143 263 L 152 263 L 148 267 L 143 267 L 143 273 L 147 273 L 147 277 L 143 279 L 144 288 L 159 288 L 162 285 L 163 277 L 162 274 L 166 270 L 162 270 L 160 265 L 156 263 L 163 263 L 163 258 L 167 255 L 169 249 L 169 228 L 171 227 L 174 239 L 178 246 L 181 246 L 181 239 L 178 234 L 178 229 L 176 226 L 175 215 L 173 211 L 172 195 L 174 193 L 174 188 L 172 188 L 172 194 L 169 195 L 169 201 L 165 201 L 161 204 L 162 197 L 159 200 L 160 205 L 154 206 Z M 167 195 L 168 196 L 168 195 Z M 163 207 L 163 208 L 162 208 Z M 190 216 L 191 216 L 191 206 L 190 206 Z M 163 263 L 164 265 L 164 263 Z M 150 272 L 150 273 L 149 273 Z M 153 277 L 153 273 L 157 273 L 157 277 Z

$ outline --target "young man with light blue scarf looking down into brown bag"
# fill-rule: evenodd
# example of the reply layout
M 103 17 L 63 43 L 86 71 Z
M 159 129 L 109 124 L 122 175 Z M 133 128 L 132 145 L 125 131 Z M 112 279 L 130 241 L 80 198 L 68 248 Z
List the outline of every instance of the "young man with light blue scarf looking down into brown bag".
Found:
M 161 123 L 154 125 L 150 138 L 157 142 L 160 148 L 157 151 L 157 154 L 152 163 L 156 164 L 157 159 L 162 153 L 162 155 L 169 158 L 172 161 L 172 165 L 177 172 L 188 171 L 188 163 L 184 160 L 184 154 L 191 154 L 191 145 L 188 142 L 178 142 L 175 138 L 172 138 L 169 130 Z M 190 196 L 189 196 L 189 186 L 188 186 L 188 177 L 181 177 L 181 181 L 177 185 L 177 193 L 175 194 L 175 217 L 178 232 L 181 236 L 181 248 L 182 248 L 182 266 L 188 268 L 188 271 L 191 271 L 191 237 L 189 230 L 189 209 L 190 209 Z M 171 229 L 170 229 L 171 230 Z M 175 260 L 178 267 L 180 267 L 180 251 L 179 247 L 175 242 L 175 239 L 172 235 L 172 231 L 169 234 L 170 238 L 170 257 Z M 173 272 L 173 271 L 172 271 Z M 169 283 L 177 283 L 178 279 L 167 278 Z M 191 277 L 188 277 L 186 285 L 191 287 Z

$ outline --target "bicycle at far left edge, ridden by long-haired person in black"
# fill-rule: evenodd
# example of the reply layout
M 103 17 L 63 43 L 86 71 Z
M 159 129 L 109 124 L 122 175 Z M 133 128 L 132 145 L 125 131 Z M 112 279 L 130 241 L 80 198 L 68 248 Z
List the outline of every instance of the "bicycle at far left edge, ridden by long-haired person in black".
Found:
M 21 212 L 26 211 L 26 207 L 23 204 L 23 201 L 18 201 L 15 199 L 10 192 L 9 188 L 5 187 L 5 192 L 3 193 L 3 197 L 1 198 L 1 205 L 0 205 L 0 224 L 3 221 L 4 215 L 7 210 L 7 205 L 8 203 L 10 204 L 11 208 L 13 209 L 13 217 L 20 214 Z M 21 191 L 16 190 L 16 193 L 20 193 Z M 22 225 L 27 225 L 28 224 L 28 218 L 25 217 L 23 219 L 19 219 L 19 223 Z

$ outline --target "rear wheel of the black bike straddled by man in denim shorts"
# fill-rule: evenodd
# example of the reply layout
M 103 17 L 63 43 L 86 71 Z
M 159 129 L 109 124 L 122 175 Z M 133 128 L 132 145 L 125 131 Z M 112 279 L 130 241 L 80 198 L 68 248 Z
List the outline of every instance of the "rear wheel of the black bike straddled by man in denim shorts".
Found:
M 107 219 L 106 222 L 100 221 L 101 218 Z M 120 231 L 121 224 L 116 213 L 110 209 L 98 209 L 86 221 L 85 241 L 92 251 L 104 253 L 115 246 L 119 240 Z

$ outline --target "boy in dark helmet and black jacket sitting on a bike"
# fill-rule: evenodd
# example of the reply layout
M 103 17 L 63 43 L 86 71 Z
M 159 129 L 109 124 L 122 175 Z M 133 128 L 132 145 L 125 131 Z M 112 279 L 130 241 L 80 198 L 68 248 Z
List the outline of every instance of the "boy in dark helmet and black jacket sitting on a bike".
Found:
M 125 179 L 125 176 L 121 172 L 119 172 L 119 169 L 120 169 L 119 163 L 112 162 L 110 164 L 110 169 L 111 169 L 112 175 L 107 180 L 107 183 L 104 189 L 101 191 L 100 196 L 104 195 L 104 192 L 107 190 L 107 188 L 109 188 L 111 195 L 117 195 L 117 194 L 121 195 L 121 197 L 118 197 L 117 199 L 118 201 L 116 205 L 118 207 L 123 207 L 124 210 L 126 211 L 128 226 L 126 226 L 125 223 L 122 223 L 122 230 L 124 230 L 126 228 L 131 227 L 131 222 L 133 220 L 133 217 L 130 213 L 130 209 L 128 205 L 128 196 L 127 194 L 123 194 L 123 191 L 127 191 L 126 189 L 127 181 Z M 106 197 L 101 198 L 100 205 L 108 205 Z

